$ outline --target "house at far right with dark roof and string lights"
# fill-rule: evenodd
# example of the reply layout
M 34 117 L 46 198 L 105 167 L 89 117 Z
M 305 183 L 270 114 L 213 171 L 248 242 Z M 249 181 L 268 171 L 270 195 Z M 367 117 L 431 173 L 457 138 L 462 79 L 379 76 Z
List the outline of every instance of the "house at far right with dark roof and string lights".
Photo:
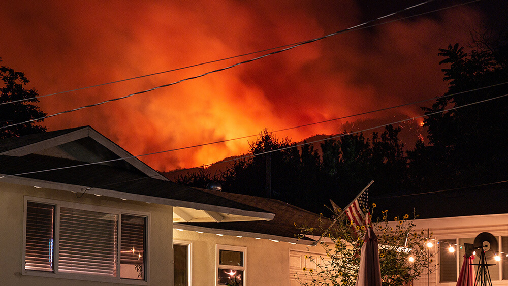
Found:
M 465 253 L 465 243 L 473 243 L 482 232 L 497 240 L 495 251 L 501 260 L 487 257 L 493 285 L 508 285 L 508 184 L 439 190 L 421 194 L 390 194 L 372 200 L 388 210 L 390 217 L 415 213 L 416 230 L 432 234 L 432 266 L 414 285 L 453 285 L 457 282 Z M 430 235 L 429 235 L 430 236 Z M 453 252 L 449 251 L 452 247 Z M 478 255 L 474 263 L 478 263 Z M 475 266 L 478 267 L 478 266 Z

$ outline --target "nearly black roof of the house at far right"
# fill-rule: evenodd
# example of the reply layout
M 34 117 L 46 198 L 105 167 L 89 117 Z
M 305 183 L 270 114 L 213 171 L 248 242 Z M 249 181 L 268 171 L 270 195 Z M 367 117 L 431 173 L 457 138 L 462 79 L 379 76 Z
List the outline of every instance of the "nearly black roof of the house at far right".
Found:
M 508 213 L 508 182 L 424 193 L 393 193 L 369 198 L 377 214 L 388 210 L 390 217 L 413 212 L 418 219 Z

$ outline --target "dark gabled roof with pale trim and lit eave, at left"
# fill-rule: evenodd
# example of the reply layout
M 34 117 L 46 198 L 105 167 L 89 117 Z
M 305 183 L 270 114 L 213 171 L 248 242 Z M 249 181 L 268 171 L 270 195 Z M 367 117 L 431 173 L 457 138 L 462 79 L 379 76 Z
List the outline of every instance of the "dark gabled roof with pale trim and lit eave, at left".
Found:
M 261 208 L 161 179 L 161 174 L 135 157 L 93 164 L 132 155 L 89 126 L 5 142 L 0 141 L 0 182 L 171 205 L 175 221 L 269 220 L 274 216 Z M 75 160 L 80 157 L 87 160 Z

